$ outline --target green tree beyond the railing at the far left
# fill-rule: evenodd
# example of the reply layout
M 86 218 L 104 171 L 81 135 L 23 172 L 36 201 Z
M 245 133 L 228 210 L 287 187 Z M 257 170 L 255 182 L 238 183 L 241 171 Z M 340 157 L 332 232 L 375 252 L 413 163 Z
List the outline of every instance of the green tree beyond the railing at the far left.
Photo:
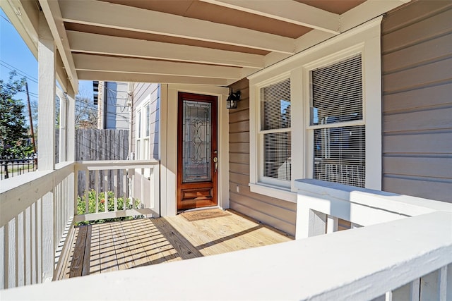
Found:
M 23 116 L 24 105 L 14 97 L 23 92 L 25 78 L 16 80 L 17 73 L 9 73 L 8 82 L 0 80 L 0 156 L 20 158 L 32 153 L 32 147 L 25 143 L 28 128 Z

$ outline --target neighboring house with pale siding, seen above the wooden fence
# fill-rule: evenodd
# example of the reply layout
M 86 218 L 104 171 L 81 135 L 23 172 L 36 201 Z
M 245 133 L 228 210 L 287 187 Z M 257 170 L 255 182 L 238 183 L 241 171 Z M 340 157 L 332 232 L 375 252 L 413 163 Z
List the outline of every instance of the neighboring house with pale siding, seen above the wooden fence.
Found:
M 93 81 L 97 104 L 97 128 L 129 129 L 129 90 L 127 82 Z M 96 93 L 97 92 L 97 93 Z

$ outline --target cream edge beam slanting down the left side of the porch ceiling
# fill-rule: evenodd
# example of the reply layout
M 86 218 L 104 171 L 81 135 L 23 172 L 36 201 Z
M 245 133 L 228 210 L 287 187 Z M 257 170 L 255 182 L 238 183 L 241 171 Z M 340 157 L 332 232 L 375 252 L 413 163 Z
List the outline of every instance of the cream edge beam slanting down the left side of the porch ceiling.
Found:
M 54 42 L 59 50 L 61 61 L 63 61 L 64 68 L 66 68 L 66 73 L 71 82 L 73 91 L 77 93 L 78 78 L 76 67 L 74 66 L 71 56 L 63 18 L 61 17 L 61 11 L 59 9 L 59 1 L 40 0 L 40 5 L 47 20 L 47 24 L 49 25 L 50 32 L 52 32 L 52 36 L 54 37 Z

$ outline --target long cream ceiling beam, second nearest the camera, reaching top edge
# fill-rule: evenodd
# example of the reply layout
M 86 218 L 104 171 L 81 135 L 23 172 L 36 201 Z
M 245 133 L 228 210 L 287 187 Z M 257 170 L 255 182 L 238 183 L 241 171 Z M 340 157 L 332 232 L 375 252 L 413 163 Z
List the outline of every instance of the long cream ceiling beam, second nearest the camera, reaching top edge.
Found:
M 293 39 L 142 8 L 86 0 L 60 1 L 65 21 L 293 54 Z

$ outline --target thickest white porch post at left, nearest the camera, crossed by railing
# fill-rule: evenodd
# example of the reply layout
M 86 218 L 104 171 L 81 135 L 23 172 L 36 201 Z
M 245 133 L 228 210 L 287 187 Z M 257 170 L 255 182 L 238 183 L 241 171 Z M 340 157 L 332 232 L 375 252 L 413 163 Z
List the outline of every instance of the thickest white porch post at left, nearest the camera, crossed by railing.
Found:
M 40 13 L 38 61 L 38 118 L 37 168 L 55 169 L 55 44 L 52 34 Z M 41 201 L 41 254 L 40 281 L 52 280 L 54 272 L 54 193 L 48 192 Z

